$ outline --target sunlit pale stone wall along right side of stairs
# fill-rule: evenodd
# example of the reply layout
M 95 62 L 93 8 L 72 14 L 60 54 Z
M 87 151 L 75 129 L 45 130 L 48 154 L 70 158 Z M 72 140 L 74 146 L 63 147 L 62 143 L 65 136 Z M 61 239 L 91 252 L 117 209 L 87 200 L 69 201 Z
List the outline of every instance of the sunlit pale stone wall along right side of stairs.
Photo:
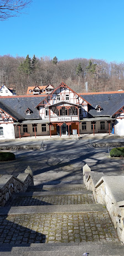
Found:
M 88 190 L 92 190 L 96 203 L 105 204 L 118 237 L 124 244 L 124 176 L 105 176 L 90 171 L 88 177 L 83 167 L 83 179 Z

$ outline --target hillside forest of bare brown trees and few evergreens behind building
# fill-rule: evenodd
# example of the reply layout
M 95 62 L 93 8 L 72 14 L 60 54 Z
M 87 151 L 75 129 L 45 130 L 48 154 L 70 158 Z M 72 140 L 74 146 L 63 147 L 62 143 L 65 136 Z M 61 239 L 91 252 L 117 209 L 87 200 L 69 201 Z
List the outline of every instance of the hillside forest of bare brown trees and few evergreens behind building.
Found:
M 25 94 L 28 86 L 50 83 L 56 87 L 61 81 L 76 92 L 86 92 L 85 82 L 88 83 L 88 92 L 124 90 L 124 62 L 0 56 L 0 85 L 13 87 L 17 94 Z

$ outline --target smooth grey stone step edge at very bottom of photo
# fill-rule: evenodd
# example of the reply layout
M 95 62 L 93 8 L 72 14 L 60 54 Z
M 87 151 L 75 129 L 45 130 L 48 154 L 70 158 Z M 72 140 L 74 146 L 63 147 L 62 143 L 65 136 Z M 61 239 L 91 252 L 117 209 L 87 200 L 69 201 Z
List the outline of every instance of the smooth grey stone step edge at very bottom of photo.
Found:
M 71 244 L 30 244 L 20 247 L 0 247 L 0 256 L 123 256 L 124 247 L 120 243 L 71 243 Z

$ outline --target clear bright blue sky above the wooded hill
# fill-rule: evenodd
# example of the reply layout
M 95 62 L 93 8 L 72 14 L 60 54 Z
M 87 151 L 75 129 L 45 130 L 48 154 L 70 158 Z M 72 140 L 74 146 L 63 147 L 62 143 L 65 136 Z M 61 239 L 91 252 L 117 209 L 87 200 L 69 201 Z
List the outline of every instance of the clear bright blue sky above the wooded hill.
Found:
M 123 0 L 33 0 L 0 22 L 0 55 L 124 61 Z

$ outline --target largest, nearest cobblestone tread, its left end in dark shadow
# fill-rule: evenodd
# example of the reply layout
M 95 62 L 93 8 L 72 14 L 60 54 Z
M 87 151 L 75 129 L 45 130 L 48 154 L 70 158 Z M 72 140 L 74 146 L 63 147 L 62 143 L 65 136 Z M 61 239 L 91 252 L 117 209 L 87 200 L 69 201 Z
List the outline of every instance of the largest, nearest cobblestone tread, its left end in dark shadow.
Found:
M 0 244 L 118 241 L 107 212 L 4 215 L 0 235 Z

